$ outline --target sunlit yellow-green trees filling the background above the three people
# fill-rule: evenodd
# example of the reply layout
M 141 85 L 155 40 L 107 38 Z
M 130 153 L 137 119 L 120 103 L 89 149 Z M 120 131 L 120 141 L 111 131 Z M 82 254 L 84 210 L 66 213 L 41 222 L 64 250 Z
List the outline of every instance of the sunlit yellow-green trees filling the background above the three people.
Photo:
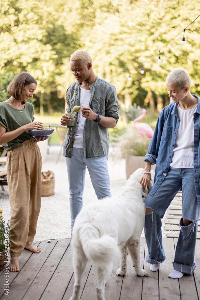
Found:
M 120 104 L 158 113 L 169 104 L 165 79 L 175 67 L 187 70 L 199 95 L 200 18 L 185 31 L 185 45 L 181 34 L 161 49 L 199 8 L 197 0 L 0 0 L 1 78 L 6 85 L 27 71 L 38 82 L 35 111 L 64 112 L 66 89 L 75 81 L 69 58 L 85 49 L 95 74 L 115 85 Z M 158 53 L 147 59 L 159 49 L 160 63 Z M 4 93 L 2 83 L 1 101 Z

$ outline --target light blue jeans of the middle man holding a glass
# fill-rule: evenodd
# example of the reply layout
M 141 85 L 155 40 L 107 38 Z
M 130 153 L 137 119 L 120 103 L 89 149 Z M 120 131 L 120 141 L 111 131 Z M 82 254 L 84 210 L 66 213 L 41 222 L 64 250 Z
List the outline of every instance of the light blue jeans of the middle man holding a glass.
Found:
M 85 171 L 88 168 L 92 185 L 98 199 L 111 197 L 108 156 L 85 158 L 83 149 L 73 148 L 71 158 L 66 157 L 70 190 L 71 229 L 82 208 Z

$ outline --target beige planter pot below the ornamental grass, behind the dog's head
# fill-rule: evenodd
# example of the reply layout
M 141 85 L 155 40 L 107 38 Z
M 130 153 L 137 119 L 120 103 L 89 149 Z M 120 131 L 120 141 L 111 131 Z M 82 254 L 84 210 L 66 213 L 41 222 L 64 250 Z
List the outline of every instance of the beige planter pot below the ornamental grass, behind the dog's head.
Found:
M 144 156 L 126 155 L 126 176 L 129 179 L 130 175 L 133 174 L 139 168 L 145 168 Z M 151 170 L 155 171 L 156 165 L 151 166 Z

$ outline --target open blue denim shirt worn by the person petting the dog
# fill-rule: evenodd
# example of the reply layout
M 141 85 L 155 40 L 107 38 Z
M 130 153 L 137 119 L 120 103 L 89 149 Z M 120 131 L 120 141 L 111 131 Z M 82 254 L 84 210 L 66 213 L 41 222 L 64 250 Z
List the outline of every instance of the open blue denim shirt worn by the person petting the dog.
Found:
M 193 96 L 198 98 L 197 110 L 194 113 L 194 180 L 197 203 L 200 203 L 200 98 L 196 95 Z M 144 161 L 156 164 L 155 183 L 149 192 L 150 195 L 154 195 L 160 187 L 170 167 L 176 134 L 180 124 L 176 106 L 176 103 L 171 103 L 160 112 L 148 153 L 144 158 Z

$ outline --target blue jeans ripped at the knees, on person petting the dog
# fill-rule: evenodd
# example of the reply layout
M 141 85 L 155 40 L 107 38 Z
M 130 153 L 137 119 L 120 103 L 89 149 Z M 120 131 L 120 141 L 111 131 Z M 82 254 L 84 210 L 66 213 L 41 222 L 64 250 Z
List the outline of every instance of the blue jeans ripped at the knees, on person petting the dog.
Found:
M 173 263 L 174 269 L 192 274 L 195 269 L 194 255 L 200 204 L 197 204 L 194 169 L 192 168 L 169 168 L 169 171 L 153 196 L 148 195 L 145 207 L 153 210 L 145 217 L 145 238 L 148 247 L 146 261 L 152 265 L 164 262 L 166 256 L 162 244 L 162 221 L 167 208 L 182 187 L 182 218 L 190 220 L 188 226 L 180 220 L 180 233 L 175 250 Z

